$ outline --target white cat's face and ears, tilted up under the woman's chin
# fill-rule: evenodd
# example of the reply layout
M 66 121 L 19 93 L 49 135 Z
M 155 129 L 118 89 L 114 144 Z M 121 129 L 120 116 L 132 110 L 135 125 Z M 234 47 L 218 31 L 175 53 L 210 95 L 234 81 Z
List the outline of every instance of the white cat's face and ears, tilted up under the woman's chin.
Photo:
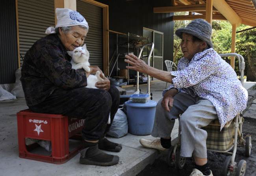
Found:
M 67 51 L 76 63 L 87 62 L 89 60 L 89 51 L 86 48 L 86 44 L 75 48 L 73 51 Z

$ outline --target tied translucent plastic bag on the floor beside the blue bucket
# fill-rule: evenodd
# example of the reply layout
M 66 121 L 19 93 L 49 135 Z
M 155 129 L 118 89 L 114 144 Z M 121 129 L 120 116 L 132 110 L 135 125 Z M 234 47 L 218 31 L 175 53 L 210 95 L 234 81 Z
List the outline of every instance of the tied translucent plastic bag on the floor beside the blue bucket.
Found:
M 114 138 L 121 138 L 128 133 L 128 121 L 127 116 L 121 109 L 117 110 L 113 123 L 107 133 Z

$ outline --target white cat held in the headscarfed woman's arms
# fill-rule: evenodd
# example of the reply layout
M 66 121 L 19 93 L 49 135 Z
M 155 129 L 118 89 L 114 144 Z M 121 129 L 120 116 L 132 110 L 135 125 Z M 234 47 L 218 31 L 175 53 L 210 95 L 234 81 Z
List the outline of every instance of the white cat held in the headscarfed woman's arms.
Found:
M 90 63 L 89 63 L 89 57 L 90 53 L 86 48 L 86 44 L 83 46 L 75 48 L 73 51 L 67 51 L 67 53 L 72 57 L 72 60 L 70 61 L 72 64 L 72 68 L 82 69 L 85 70 L 85 72 L 91 72 L 90 69 Z M 103 73 L 102 73 L 103 74 Z M 103 74 L 104 75 L 104 74 Z M 100 71 L 97 71 L 95 75 L 89 75 L 87 78 L 87 88 L 96 88 L 95 83 L 98 81 L 104 81 L 100 77 Z

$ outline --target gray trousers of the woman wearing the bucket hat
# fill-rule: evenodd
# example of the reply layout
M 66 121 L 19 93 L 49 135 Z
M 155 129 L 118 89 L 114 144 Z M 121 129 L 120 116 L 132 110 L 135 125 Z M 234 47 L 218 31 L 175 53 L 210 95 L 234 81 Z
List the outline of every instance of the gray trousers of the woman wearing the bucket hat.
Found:
M 207 158 L 207 132 L 202 127 L 217 119 L 217 112 L 213 104 L 200 97 L 191 97 L 188 94 L 178 93 L 174 97 L 170 112 L 161 106 L 158 101 L 152 136 L 169 138 L 174 126 L 174 119 L 180 114 L 179 125 L 182 132 L 180 156 Z

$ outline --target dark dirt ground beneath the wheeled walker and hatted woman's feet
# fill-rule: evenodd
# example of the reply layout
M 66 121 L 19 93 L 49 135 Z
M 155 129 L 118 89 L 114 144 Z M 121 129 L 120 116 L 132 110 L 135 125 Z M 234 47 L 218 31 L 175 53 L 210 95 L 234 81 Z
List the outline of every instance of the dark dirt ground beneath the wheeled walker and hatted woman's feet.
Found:
M 237 164 L 241 159 L 247 162 L 246 176 L 256 176 L 256 119 L 245 118 L 243 123 L 243 135 L 250 134 L 252 136 L 251 156 L 245 156 L 245 147 L 237 147 L 235 161 Z M 221 176 L 222 167 L 228 154 L 208 151 L 208 163 L 214 176 Z M 187 158 L 184 169 L 176 170 L 174 166 L 166 163 L 166 153 L 162 153 L 152 165 L 148 165 L 137 176 L 189 176 L 193 169 L 193 161 Z

